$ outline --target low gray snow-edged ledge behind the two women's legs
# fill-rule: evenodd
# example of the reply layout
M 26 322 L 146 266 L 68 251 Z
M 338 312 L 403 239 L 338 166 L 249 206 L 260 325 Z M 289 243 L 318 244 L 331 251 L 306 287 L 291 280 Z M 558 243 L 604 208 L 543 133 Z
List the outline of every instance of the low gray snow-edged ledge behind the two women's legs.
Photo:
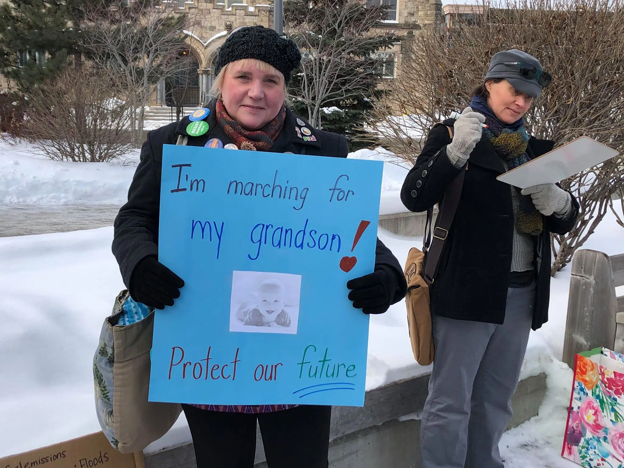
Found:
M 334 407 L 331 417 L 329 466 L 332 468 L 419 468 L 420 421 L 397 421 L 422 411 L 429 375 L 366 392 L 364 407 Z M 546 391 L 546 376 L 520 381 L 512 398 L 509 427 L 536 416 Z M 193 444 L 145 456 L 146 468 L 195 468 Z M 266 468 L 260 432 L 256 434 L 256 468 Z

